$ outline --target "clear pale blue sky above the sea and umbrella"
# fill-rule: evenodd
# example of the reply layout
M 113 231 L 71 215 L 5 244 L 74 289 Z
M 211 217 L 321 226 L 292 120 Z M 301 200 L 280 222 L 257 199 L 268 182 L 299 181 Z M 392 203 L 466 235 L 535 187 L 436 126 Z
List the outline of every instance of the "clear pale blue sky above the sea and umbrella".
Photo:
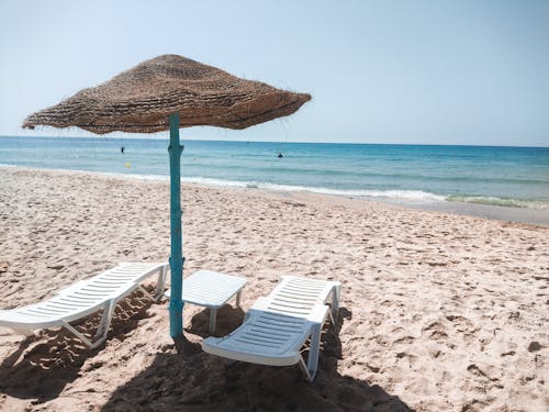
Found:
M 535 0 L 2 0 L 0 135 L 86 135 L 20 125 L 167 53 L 313 94 L 290 118 L 183 138 L 549 145 L 549 1 Z

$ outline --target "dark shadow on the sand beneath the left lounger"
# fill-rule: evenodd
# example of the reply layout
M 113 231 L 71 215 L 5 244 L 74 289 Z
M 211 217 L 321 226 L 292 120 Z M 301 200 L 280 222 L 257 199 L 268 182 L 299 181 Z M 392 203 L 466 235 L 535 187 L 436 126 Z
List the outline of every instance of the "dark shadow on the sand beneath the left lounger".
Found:
M 124 341 L 141 319 L 148 318 L 150 300 L 134 292 L 115 308 L 108 341 Z M 99 326 L 101 312 L 72 325 L 92 338 Z M 42 403 L 57 397 L 67 383 L 80 375 L 87 359 L 93 358 L 101 347 L 89 349 L 65 329 L 43 330 L 25 337 L 19 347 L 0 364 L 0 393 L 19 399 L 36 399 Z

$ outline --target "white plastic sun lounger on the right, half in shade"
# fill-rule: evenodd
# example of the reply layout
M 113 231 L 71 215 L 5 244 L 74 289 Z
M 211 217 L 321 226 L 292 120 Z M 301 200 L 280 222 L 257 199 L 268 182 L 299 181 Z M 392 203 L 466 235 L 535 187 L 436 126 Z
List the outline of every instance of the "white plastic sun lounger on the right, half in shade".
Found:
M 336 320 L 340 283 L 282 277 L 265 298 L 259 298 L 246 313 L 244 323 L 224 337 L 208 337 L 202 349 L 233 360 L 268 366 L 299 364 L 312 381 L 318 368 L 322 326 L 326 319 Z M 324 304 L 332 296 L 332 311 Z M 301 356 L 307 339 L 309 357 Z

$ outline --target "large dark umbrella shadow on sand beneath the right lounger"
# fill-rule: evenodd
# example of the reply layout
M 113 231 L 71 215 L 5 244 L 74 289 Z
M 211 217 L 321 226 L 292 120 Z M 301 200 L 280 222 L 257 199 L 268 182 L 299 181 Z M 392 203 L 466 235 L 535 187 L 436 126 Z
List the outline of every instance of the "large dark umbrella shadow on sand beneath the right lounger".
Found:
M 243 315 L 239 309 L 224 308 L 217 319 L 227 314 L 234 319 Z M 320 369 L 312 383 L 296 366 L 229 364 L 181 337 L 176 342 L 177 350 L 158 354 L 147 369 L 112 393 L 103 410 L 410 411 L 399 397 L 381 387 L 338 372 L 343 357 L 339 330 L 351 315 L 341 308 L 337 326 L 325 327 Z M 197 314 L 191 323 L 188 334 L 202 335 L 208 329 L 208 312 Z M 217 334 L 227 332 L 223 324 L 217 329 Z

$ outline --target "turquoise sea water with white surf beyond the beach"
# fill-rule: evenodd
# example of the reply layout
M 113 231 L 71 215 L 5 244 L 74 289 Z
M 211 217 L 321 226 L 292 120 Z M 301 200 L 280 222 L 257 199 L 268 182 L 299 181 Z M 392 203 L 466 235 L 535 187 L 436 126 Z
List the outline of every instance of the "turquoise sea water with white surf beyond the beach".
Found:
M 549 210 L 549 147 L 183 143 L 183 181 Z M 167 178 L 167 144 L 159 138 L 0 137 L 0 164 Z

